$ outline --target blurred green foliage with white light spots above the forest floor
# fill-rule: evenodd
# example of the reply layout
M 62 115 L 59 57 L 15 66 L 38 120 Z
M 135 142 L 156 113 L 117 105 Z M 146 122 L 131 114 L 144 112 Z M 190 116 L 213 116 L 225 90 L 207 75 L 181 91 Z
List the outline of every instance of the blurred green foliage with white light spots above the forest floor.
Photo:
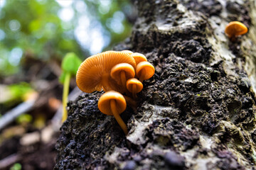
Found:
M 0 59 L 8 69 L 0 77 L 18 72 L 26 54 L 47 61 L 75 52 L 84 60 L 111 49 L 131 33 L 122 11 L 129 6 L 127 0 L 1 0 Z M 22 51 L 16 62 L 14 49 Z

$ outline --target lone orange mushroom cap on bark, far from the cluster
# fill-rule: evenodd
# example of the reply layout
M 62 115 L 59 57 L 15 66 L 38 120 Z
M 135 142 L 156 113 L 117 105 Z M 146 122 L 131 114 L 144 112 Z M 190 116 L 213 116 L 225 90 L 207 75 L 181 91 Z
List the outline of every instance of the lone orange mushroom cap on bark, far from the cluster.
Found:
M 225 27 L 225 33 L 229 37 L 238 36 L 247 33 L 247 27 L 245 24 L 240 23 L 239 21 L 232 21 L 228 23 L 228 26 Z

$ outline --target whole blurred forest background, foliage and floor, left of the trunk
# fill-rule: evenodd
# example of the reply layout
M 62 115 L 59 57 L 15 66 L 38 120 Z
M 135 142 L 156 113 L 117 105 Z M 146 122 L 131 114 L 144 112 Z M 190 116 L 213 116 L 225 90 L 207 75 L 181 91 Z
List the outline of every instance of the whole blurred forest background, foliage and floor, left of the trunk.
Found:
M 135 18 L 129 0 L 0 0 L 0 169 L 53 169 L 63 57 L 111 50 Z

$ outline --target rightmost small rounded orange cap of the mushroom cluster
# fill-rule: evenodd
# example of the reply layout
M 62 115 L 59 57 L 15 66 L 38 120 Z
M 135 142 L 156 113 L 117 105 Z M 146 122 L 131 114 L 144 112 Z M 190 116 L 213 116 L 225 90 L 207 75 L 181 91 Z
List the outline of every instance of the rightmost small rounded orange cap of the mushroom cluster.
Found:
M 136 67 L 136 75 L 137 77 L 142 77 L 142 74 L 144 75 L 145 79 L 150 79 L 154 75 L 154 66 L 149 62 L 140 62 Z

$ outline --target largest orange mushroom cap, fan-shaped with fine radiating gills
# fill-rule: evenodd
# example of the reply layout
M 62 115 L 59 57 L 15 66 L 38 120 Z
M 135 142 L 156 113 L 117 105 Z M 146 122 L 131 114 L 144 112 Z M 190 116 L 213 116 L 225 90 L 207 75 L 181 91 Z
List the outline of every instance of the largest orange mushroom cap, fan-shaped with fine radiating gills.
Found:
M 136 68 L 134 59 L 127 52 L 107 51 L 88 57 L 80 64 L 76 74 L 76 82 L 79 89 L 86 93 L 101 91 L 102 77 L 110 74 L 112 67 L 124 62 Z M 119 91 L 116 82 L 113 79 L 109 80 L 110 87 L 105 86 L 104 90 L 113 89 Z

